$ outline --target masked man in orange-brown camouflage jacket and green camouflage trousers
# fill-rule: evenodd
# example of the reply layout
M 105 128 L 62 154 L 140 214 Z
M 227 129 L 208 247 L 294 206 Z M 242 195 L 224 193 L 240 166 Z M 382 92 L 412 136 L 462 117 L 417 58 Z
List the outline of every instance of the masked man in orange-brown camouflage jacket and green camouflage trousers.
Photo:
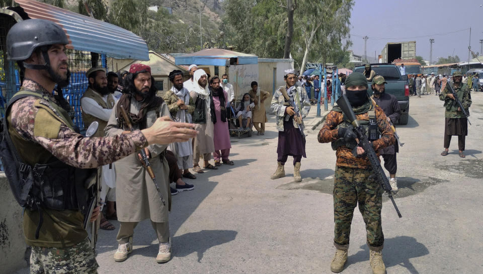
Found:
M 354 72 L 346 79 L 346 95 L 360 124 L 368 127 L 369 119 L 375 119 L 380 138 L 372 142 L 375 151 L 395 142 L 384 111 L 370 102 L 367 95 L 367 79 L 364 74 Z M 334 245 L 336 255 L 331 263 L 333 272 L 341 272 L 347 261 L 349 235 L 354 208 L 359 210 L 366 224 L 367 244 L 370 249 L 370 264 L 373 273 L 384 273 L 381 250 L 384 235 L 381 226 L 382 187 L 370 178 L 371 166 L 364 150 L 357 145 L 351 123 L 344 119 L 342 110 L 335 106 L 327 115 L 324 126 L 318 133 L 320 143 L 332 142 L 337 162 L 334 181 Z M 354 156 L 356 155 L 356 156 Z M 379 155 L 379 154 L 378 154 Z

